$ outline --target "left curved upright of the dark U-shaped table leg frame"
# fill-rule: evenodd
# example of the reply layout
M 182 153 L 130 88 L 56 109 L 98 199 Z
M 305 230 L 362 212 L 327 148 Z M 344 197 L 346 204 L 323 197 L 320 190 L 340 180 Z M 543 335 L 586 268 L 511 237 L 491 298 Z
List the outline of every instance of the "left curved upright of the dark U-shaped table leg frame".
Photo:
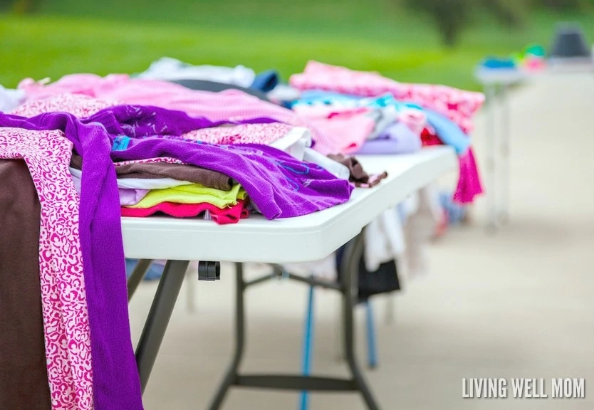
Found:
M 223 401 L 226 396 L 226 392 L 229 390 L 234 382 L 236 382 L 238 371 L 239 371 L 239 364 L 241 364 L 241 359 L 244 356 L 244 346 L 245 346 L 245 313 L 244 313 L 244 291 L 245 291 L 245 281 L 244 281 L 244 264 L 243 263 L 236 263 L 235 264 L 235 274 L 237 277 L 236 280 L 236 312 L 235 312 L 235 353 L 229 368 L 227 369 L 223 382 L 219 386 L 217 390 L 217 394 L 214 395 L 214 399 L 210 406 L 208 407 L 210 410 L 217 410 L 223 404 Z

